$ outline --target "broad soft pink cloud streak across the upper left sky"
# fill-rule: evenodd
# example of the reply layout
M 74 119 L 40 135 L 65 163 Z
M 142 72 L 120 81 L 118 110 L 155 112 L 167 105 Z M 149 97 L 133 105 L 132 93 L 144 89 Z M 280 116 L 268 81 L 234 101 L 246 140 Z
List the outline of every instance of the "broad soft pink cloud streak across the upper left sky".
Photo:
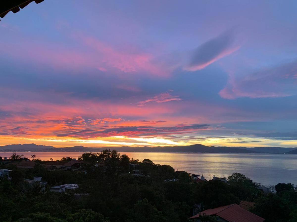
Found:
M 73 37 L 75 36 L 75 37 Z M 102 72 L 119 70 L 124 73 L 146 73 L 151 75 L 168 75 L 168 70 L 156 62 L 153 54 L 133 50 L 119 51 L 112 45 L 93 37 L 73 35 L 78 43 L 76 48 L 64 45 L 40 44 L 23 38 L 13 45 L 0 43 L 0 52 L 18 57 L 21 60 L 31 60 L 37 64 L 52 65 L 56 68 L 78 69 L 95 68 Z

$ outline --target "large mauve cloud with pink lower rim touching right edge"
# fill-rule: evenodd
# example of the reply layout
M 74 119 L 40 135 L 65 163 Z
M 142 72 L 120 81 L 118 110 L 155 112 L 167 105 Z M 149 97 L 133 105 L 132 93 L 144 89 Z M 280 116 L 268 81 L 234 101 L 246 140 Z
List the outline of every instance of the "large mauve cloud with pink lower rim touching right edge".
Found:
M 285 97 L 297 94 L 297 61 L 243 75 L 229 73 L 227 86 L 219 92 L 225 99 L 238 97 Z

